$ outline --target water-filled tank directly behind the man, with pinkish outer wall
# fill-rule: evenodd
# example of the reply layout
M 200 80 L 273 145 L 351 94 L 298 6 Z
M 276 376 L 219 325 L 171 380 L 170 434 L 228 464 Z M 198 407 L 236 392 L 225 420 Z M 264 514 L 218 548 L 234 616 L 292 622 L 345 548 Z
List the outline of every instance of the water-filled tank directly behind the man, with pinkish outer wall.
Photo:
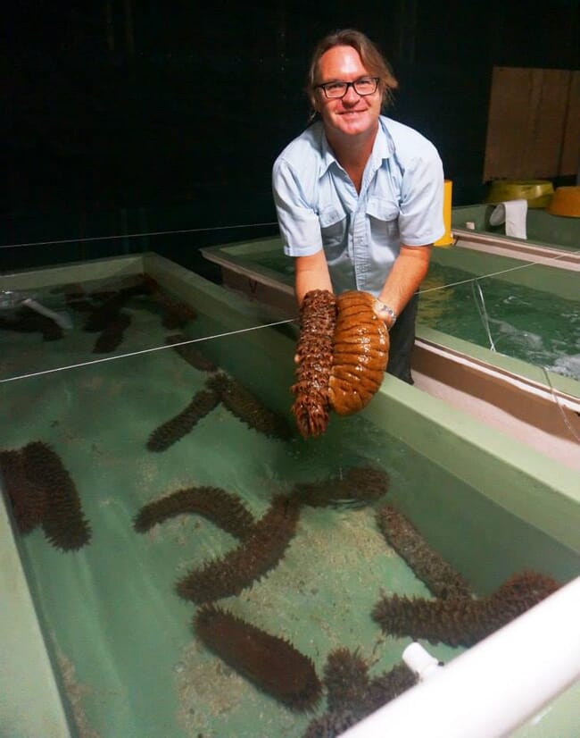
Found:
M 296 315 L 279 237 L 203 254 L 228 289 Z M 419 292 L 415 386 L 580 471 L 580 253 L 460 237 Z

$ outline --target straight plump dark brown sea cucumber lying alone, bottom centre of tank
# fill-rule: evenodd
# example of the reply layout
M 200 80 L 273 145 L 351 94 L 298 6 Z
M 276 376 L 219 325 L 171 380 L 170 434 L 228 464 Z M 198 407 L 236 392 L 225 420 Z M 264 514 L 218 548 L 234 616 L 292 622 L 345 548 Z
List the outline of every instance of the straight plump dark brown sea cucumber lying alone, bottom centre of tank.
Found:
M 303 712 L 318 704 L 314 664 L 290 642 L 213 605 L 198 610 L 194 628 L 206 648 L 286 707 Z

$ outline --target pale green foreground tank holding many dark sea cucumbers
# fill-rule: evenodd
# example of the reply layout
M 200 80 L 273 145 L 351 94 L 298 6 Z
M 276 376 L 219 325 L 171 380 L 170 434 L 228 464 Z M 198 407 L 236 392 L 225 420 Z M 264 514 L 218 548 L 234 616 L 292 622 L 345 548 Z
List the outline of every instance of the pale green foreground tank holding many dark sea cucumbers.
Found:
M 0 291 L 2 735 L 338 735 L 579 574 L 577 470 L 441 398 L 302 438 L 280 306 L 154 253 Z

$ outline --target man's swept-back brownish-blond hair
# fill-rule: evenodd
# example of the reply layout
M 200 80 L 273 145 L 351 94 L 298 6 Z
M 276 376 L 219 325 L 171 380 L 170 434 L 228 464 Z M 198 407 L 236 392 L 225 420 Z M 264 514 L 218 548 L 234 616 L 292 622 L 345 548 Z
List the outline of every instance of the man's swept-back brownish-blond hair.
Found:
M 371 77 L 378 77 L 378 88 L 383 98 L 383 107 L 387 107 L 393 102 L 393 90 L 399 87 L 399 83 L 394 77 L 390 64 L 381 54 L 376 44 L 374 44 L 360 30 L 342 29 L 329 33 L 322 38 L 314 49 L 311 58 L 311 65 L 306 78 L 306 94 L 311 101 L 312 113 L 311 120 L 316 118 L 316 95 L 317 85 L 319 84 L 319 62 L 320 57 L 326 54 L 328 49 L 335 46 L 352 46 L 360 56 L 360 61 L 365 69 L 369 71 Z

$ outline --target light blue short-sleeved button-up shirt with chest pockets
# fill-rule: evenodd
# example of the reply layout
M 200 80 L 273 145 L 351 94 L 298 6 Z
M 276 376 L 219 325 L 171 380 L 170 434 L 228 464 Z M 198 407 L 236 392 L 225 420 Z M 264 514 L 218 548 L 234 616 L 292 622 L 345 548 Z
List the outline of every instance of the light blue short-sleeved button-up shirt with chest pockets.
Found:
M 443 164 L 433 144 L 381 115 L 360 193 L 338 164 L 321 122 L 294 138 L 274 163 L 274 200 L 287 256 L 324 248 L 337 294 L 378 295 L 401 244 L 443 236 Z

